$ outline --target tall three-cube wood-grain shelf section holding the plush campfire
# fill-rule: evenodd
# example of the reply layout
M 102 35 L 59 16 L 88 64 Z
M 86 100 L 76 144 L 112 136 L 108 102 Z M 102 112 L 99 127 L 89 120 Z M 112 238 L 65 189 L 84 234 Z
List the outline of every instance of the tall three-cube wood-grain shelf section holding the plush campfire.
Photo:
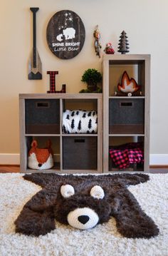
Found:
M 117 84 L 127 71 L 141 86 L 140 96 L 116 96 Z M 149 55 L 103 56 L 103 170 L 120 171 L 110 158 L 110 148 L 140 143 L 144 163 L 130 164 L 125 171 L 149 171 Z M 123 94 L 124 95 L 124 94 Z M 124 170 L 124 169 L 123 169 Z

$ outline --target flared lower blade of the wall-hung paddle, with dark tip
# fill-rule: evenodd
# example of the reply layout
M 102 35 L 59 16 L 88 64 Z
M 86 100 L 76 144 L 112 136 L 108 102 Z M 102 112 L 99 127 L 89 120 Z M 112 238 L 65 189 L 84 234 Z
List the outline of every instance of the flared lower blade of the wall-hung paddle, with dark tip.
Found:
M 36 67 L 33 66 L 33 51 L 31 58 L 28 62 L 28 79 L 29 80 L 41 80 L 42 79 L 42 63 L 41 58 L 36 51 Z

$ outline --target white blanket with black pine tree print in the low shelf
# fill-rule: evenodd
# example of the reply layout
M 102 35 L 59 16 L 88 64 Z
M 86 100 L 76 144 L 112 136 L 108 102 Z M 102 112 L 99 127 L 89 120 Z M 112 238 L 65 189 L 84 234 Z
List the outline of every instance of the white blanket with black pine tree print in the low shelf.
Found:
M 64 111 L 63 133 L 98 133 L 97 112 L 81 110 Z

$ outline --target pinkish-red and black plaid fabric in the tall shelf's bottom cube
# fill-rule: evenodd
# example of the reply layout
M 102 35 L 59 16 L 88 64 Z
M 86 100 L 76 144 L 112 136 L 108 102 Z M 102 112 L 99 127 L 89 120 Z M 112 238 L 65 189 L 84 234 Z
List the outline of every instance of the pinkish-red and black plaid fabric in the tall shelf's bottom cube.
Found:
M 143 163 L 144 151 L 142 143 L 126 143 L 110 148 L 110 157 L 113 163 L 120 168 L 125 169 L 131 163 Z

